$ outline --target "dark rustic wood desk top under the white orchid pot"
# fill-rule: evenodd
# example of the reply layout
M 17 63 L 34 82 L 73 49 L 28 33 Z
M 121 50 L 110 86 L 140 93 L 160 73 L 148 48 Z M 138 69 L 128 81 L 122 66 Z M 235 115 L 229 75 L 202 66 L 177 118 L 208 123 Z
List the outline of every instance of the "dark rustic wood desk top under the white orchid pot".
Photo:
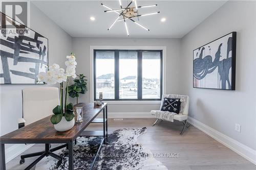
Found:
M 94 106 L 94 103 L 79 103 L 74 107 L 83 107 L 83 122 L 65 132 L 57 132 L 50 122 L 51 116 L 42 118 L 30 125 L 17 129 L 0 137 L 1 143 L 59 143 L 76 139 L 92 120 L 106 107 Z

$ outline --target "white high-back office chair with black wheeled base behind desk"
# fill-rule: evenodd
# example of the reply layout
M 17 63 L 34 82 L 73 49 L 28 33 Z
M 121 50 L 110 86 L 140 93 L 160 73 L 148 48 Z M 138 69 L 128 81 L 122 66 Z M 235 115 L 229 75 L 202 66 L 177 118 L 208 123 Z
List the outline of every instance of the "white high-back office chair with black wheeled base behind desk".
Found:
M 26 88 L 22 90 L 22 94 L 23 94 L 23 118 L 18 119 L 19 128 L 22 127 L 22 124 L 25 124 L 25 126 L 27 126 L 33 122 L 36 122 L 41 118 L 45 118 L 53 114 L 52 113 L 53 108 L 59 105 L 59 90 L 56 87 Z M 46 146 L 45 151 L 20 156 L 19 163 L 20 164 L 24 163 L 25 158 L 40 156 L 26 168 L 26 169 L 30 169 L 42 158 L 50 155 L 55 159 L 59 160 L 58 164 L 60 165 L 62 158 L 52 152 L 57 151 L 61 148 L 67 147 L 67 144 L 61 145 L 51 150 L 50 150 L 49 143 L 46 143 L 45 146 Z

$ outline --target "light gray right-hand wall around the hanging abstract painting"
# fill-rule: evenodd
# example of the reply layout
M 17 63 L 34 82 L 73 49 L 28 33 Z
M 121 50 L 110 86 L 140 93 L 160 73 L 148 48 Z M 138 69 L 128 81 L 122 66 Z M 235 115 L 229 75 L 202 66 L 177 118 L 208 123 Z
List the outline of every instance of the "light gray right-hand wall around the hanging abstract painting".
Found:
M 190 96 L 189 115 L 256 149 L 255 5 L 229 1 L 181 40 L 182 91 Z M 236 91 L 193 88 L 193 50 L 237 32 Z M 241 133 L 234 124 L 241 124 Z

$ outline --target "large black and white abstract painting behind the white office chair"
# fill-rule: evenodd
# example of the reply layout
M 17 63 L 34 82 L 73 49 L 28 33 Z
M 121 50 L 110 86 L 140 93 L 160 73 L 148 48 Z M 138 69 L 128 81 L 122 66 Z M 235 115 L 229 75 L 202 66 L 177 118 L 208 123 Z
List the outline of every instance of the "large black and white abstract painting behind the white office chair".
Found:
M 1 29 L 3 23 L 11 22 L 17 29 L 16 21 L 0 13 Z M 23 26 L 25 28 L 25 26 Z M 39 84 L 37 75 L 47 70 L 48 39 L 29 29 L 29 34 L 1 34 L 0 40 L 0 83 L 1 84 Z

